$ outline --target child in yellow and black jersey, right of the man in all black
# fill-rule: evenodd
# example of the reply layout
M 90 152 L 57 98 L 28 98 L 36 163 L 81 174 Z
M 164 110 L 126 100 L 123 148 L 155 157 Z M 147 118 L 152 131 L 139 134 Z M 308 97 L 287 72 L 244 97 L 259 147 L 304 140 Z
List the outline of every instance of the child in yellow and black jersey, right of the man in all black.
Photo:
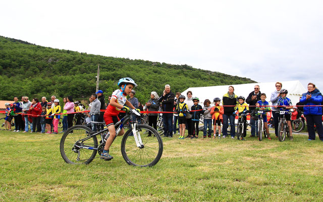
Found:
M 176 112 L 178 113 L 178 124 L 180 127 L 180 136 L 179 139 L 184 139 L 185 135 L 185 124 L 186 124 L 186 112 L 188 112 L 188 106 L 184 103 L 185 96 L 179 95 L 178 102 L 175 107 Z

